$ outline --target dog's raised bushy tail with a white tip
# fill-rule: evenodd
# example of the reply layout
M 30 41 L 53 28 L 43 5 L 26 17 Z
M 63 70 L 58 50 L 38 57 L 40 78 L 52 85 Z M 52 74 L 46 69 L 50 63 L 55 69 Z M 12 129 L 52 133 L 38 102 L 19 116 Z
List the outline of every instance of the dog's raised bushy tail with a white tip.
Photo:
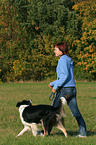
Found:
M 66 103 L 66 99 L 64 97 L 60 98 L 59 106 L 57 107 L 57 110 L 61 114 L 62 117 L 65 117 L 66 115 L 64 114 L 64 105 Z

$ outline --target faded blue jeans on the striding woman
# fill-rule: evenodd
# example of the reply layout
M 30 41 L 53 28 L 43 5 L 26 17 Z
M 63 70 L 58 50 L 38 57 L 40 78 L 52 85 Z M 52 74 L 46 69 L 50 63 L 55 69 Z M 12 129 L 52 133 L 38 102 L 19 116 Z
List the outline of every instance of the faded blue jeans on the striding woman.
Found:
M 61 97 L 64 97 L 66 99 L 72 115 L 77 120 L 79 126 L 79 134 L 86 136 L 86 124 L 77 106 L 76 88 L 60 88 L 57 91 L 56 98 L 54 99 L 52 106 L 57 107 L 59 105 L 59 100 Z

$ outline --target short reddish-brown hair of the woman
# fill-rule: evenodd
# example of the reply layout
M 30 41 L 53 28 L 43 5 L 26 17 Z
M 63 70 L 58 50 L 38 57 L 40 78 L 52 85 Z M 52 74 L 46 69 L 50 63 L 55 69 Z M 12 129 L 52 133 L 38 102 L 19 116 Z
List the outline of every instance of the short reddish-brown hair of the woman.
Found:
M 59 48 L 60 51 L 62 51 L 63 54 L 68 55 L 69 51 L 68 51 L 68 46 L 66 42 L 59 42 L 55 44 L 56 47 Z

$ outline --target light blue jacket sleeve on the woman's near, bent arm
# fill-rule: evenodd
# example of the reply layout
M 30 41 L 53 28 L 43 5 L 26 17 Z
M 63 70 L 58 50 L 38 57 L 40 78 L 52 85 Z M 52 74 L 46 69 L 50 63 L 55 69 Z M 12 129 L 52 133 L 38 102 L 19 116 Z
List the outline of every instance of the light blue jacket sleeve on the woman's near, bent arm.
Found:
M 59 79 L 55 80 L 54 82 L 50 83 L 51 86 L 53 86 L 54 89 L 58 89 L 58 87 L 61 87 L 68 78 L 68 62 L 67 60 L 60 60 L 59 62 Z

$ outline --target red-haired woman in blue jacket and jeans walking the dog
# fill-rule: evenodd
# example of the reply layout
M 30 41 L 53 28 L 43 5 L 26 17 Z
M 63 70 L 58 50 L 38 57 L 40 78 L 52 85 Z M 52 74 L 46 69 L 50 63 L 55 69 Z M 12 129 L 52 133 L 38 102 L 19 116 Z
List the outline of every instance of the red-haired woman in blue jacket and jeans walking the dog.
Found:
M 52 105 L 57 107 L 60 97 L 65 97 L 71 113 L 76 118 L 79 125 L 78 137 L 86 137 L 86 125 L 77 106 L 73 61 L 68 56 L 67 44 L 65 42 L 57 43 L 54 53 L 56 57 L 59 56 L 60 58 L 56 69 L 57 80 L 48 85 L 49 88 L 52 88 L 52 92 L 56 93 L 56 98 Z

